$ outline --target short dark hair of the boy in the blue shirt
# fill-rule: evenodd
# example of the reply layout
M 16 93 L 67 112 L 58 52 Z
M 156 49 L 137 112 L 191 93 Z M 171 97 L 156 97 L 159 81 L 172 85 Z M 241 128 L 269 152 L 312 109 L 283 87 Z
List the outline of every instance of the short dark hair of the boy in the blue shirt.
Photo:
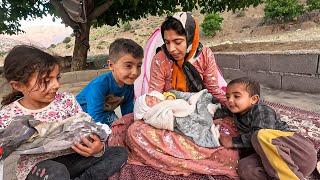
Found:
M 143 58 L 143 48 L 131 39 L 119 38 L 110 44 L 109 57 L 113 62 L 130 54 L 135 59 Z

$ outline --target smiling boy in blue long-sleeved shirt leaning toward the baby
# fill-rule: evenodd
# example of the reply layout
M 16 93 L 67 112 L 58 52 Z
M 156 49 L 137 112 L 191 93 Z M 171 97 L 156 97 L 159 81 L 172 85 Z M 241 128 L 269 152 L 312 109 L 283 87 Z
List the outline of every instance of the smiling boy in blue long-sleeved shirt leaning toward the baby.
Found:
M 118 105 L 122 115 L 133 112 L 133 82 L 140 75 L 143 48 L 133 40 L 116 39 L 110 45 L 109 57 L 111 72 L 93 79 L 76 98 L 96 122 L 111 125 L 118 119 L 114 112 Z

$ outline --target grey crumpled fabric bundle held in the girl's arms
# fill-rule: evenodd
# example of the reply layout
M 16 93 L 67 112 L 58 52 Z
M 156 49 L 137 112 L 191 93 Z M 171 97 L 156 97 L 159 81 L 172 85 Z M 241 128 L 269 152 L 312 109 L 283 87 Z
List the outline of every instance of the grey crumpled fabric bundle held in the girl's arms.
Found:
M 1 159 L 11 153 L 39 154 L 69 149 L 81 137 L 96 134 L 106 141 L 111 129 L 98 125 L 86 113 L 79 113 L 63 121 L 41 122 L 33 116 L 15 117 L 8 127 L 0 130 Z

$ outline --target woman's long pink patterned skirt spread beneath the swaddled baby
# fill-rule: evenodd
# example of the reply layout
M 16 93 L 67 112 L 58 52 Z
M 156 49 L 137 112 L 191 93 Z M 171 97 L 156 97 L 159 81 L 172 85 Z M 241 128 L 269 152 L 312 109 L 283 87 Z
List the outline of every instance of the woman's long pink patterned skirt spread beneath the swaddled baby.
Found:
M 225 118 L 216 123 L 221 125 L 221 133 L 237 135 L 232 119 Z M 115 121 L 112 133 L 108 145 L 127 146 L 129 164 L 151 166 L 169 175 L 198 173 L 238 178 L 237 150 L 200 147 L 174 131 L 156 129 L 144 121 L 133 122 L 132 115 Z

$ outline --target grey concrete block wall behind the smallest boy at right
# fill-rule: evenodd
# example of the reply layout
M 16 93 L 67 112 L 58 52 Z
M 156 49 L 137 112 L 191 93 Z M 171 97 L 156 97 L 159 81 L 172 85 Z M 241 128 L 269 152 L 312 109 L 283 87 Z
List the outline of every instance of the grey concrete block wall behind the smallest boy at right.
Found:
M 215 53 L 223 76 L 249 76 L 261 84 L 282 90 L 319 93 L 320 53 L 266 52 Z

